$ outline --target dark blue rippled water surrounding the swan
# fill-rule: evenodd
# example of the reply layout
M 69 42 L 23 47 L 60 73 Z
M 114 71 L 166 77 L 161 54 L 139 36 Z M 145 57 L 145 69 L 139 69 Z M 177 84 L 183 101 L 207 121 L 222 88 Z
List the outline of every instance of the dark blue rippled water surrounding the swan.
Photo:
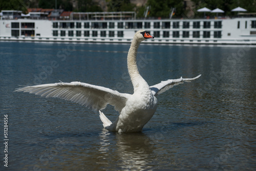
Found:
M 59 80 L 132 93 L 129 45 L 0 42 L 0 49 L 1 170 L 256 169 L 255 47 L 141 45 L 138 65 L 148 84 L 202 76 L 159 95 L 138 134 L 104 131 L 98 113 L 76 103 L 13 93 Z M 117 117 L 112 106 L 103 112 Z

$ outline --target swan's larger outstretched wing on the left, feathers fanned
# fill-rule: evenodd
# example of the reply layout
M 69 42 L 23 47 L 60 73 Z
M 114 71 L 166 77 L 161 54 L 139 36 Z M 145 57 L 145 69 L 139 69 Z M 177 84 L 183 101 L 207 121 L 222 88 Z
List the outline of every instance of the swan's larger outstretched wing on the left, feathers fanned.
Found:
M 107 104 L 121 111 L 130 94 L 119 93 L 101 86 L 83 82 L 59 82 L 18 88 L 15 92 L 29 92 L 41 97 L 57 97 L 86 105 L 93 110 L 102 110 Z

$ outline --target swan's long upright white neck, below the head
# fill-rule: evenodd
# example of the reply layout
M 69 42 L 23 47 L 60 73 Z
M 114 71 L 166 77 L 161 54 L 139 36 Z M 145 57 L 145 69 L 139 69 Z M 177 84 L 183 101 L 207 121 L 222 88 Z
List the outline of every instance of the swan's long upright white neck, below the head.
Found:
M 136 64 L 136 56 L 137 56 L 137 50 L 139 48 L 139 45 L 140 45 L 140 42 L 137 41 L 136 38 L 134 38 L 127 56 L 127 67 L 133 83 L 134 92 L 136 92 L 136 90 L 138 90 L 139 87 L 141 86 L 148 87 L 147 82 L 140 75 L 137 64 Z

